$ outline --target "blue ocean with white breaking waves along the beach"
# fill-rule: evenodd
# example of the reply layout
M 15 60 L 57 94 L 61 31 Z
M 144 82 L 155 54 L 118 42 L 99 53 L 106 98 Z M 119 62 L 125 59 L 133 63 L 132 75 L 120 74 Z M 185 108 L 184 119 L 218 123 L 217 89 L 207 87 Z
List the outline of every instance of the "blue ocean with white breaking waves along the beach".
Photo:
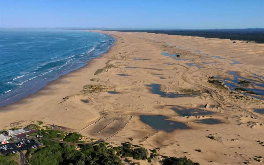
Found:
M 82 30 L 0 29 L 0 107 L 81 68 L 114 41 Z

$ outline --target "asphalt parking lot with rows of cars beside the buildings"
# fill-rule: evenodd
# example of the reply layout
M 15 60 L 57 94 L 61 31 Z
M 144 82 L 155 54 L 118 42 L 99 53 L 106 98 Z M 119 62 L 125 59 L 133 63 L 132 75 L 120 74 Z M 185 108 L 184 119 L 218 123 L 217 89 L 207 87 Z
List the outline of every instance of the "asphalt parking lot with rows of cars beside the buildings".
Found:
M 0 152 L 2 155 L 13 154 L 19 151 L 33 148 L 38 148 L 41 143 L 37 139 L 25 139 L 13 143 L 8 143 L 0 146 Z M 14 152 L 13 152 L 14 151 Z

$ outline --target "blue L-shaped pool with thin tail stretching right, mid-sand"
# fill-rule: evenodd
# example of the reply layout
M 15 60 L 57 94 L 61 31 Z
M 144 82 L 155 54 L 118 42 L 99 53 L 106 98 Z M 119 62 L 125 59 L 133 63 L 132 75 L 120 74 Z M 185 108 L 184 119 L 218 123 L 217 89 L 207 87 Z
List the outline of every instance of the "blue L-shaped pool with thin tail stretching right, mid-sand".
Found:
M 190 95 L 186 95 L 186 94 L 179 94 L 179 93 L 173 93 L 173 92 L 166 93 L 166 92 L 160 91 L 160 86 L 161 86 L 160 84 L 150 84 L 146 86 L 151 87 L 149 91 L 152 94 L 158 94 L 161 97 L 168 97 L 168 98 L 191 97 Z

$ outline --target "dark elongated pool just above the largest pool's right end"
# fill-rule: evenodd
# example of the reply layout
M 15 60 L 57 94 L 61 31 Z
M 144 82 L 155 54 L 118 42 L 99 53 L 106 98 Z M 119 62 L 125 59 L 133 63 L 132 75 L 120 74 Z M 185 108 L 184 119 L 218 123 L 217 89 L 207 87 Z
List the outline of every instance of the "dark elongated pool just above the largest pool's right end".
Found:
M 171 109 L 175 111 L 179 116 L 204 116 L 216 113 L 198 108 L 173 107 Z

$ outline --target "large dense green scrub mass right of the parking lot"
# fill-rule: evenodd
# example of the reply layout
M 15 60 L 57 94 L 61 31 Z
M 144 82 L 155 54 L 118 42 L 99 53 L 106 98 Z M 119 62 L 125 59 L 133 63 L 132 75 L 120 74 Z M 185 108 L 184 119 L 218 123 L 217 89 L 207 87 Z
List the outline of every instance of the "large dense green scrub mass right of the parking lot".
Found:
M 59 164 L 93 164 L 93 165 L 122 165 L 115 151 L 103 143 L 82 145 L 80 150 L 75 146 L 52 142 L 42 139 L 46 146 L 37 150 L 30 149 L 26 156 L 30 164 L 59 165 Z

